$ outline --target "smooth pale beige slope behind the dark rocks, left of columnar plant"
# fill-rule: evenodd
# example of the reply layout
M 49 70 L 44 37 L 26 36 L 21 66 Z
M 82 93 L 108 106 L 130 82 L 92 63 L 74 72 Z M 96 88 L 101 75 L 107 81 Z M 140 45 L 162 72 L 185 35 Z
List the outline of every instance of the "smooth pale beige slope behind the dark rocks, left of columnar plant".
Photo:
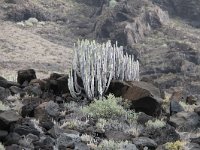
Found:
M 72 50 L 52 43 L 9 22 L 0 23 L 1 73 L 35 68 L 41 73 L 70 67 Z

